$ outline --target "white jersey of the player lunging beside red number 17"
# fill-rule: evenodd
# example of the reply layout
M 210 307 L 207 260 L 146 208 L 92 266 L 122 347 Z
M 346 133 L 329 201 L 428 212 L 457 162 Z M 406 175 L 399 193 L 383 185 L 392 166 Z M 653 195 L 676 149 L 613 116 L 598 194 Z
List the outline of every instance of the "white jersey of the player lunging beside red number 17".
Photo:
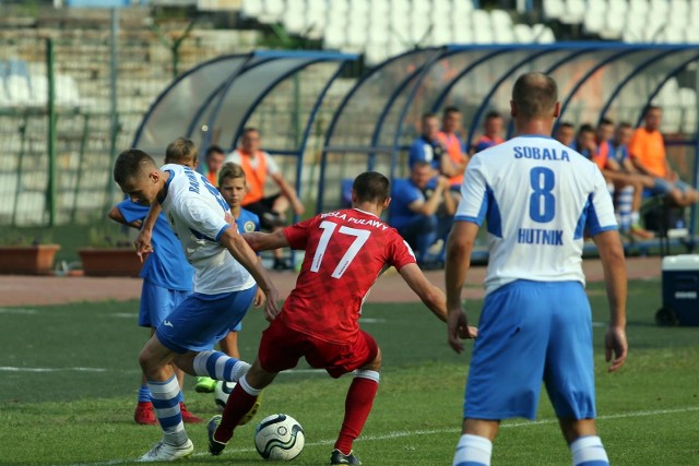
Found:
M 161 169 L 170 177 L 159 202 L 194 267 L 194 292 L 216 295 L 252 287 L 252 276 L 218 242 L 230 228 L 225 219 L 230 211 L 218 190 L 189 167 L 168 164 Z

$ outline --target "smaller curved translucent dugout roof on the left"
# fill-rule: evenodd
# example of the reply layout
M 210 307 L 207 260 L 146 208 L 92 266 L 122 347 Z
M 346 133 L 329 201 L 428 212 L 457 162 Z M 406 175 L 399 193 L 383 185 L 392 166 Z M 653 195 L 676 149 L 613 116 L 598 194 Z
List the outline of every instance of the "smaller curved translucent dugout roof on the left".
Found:
M 132 146 L 163 156 L 169 142 L 186 136 L 202 157 L 212 144 L 233 150 L 251 122 L 274 119 L 268 126 L 275 134 L 265 134 L 264 150 L 298 157 L 298 183 L 311 121 L 344 64 L 354 60 L 354 55 L 323 51 L 217 57 L 185 72 L 163 91 L 145 113 Z M 275 98 L 277 93 L 284 98 Z M 288 101 L 297 105 L 280 108 L 280 103 Z

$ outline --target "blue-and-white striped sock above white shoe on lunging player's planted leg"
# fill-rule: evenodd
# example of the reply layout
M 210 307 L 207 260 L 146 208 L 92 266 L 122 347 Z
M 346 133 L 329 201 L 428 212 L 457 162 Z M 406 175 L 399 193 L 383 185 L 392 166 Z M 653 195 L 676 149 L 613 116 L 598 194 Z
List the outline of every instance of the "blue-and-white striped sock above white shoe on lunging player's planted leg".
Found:
M 165 443 L 181 445 L 187 442 L 187 432 L 179 410 L 179 384 L 173 375 L 165 382 L 149 380 L 153 410 L 164 432 Z

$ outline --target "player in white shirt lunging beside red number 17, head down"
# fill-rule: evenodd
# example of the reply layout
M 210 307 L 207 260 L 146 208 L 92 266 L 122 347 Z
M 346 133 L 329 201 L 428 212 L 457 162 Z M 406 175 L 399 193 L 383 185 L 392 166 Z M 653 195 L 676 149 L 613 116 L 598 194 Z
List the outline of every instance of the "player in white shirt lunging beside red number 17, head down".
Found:
M 132 201 L 159 203 L 194 268 L 193 292 L 161 322 L 139 356 L 164 431 L 163 440 L 140 461 L 179 459 L 191 455 L 193 445 L 182 425 L 179 385 L 169 362 L 192 375 L 237 382 L 249 365 L 210 348 L 240 322 L 256 282 L 268 297 L 270 320 L 280 312 L 277 291 L 226 220 L 228 204 L 204 176 L 181 165 L 158 169 L 146 153 L 128 150 L 117 158 L 114 178 Z

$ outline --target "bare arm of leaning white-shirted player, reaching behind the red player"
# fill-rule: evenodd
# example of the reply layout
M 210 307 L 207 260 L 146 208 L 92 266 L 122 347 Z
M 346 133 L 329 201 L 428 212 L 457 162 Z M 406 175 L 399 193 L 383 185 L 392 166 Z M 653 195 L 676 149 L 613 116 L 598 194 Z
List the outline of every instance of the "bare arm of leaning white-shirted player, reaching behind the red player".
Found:
M 273 321 L 280 313 L 279 308 L 279 291 L 272 283 L 264 267 L 262 267 L 262 261 L 248 246 L 247 241 L 242 238 L 235 228 L 226 228 L 218 238 L 218 241 L 230 252 L 230 254 L 242 265 L 252 278 L 258 283 L 258 286 L 262 288 L 266 296 L 266 306 L 264 308 L 264 316 L 268 321 Z

